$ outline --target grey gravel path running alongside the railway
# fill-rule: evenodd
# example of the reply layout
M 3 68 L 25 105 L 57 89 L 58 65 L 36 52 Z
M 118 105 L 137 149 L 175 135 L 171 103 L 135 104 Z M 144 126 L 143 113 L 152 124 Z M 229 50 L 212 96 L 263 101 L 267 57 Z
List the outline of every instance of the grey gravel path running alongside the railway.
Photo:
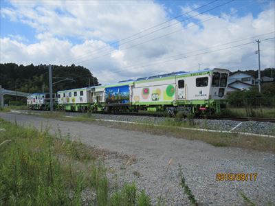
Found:
M 216 148 L 201 141 L 148 135 L 141 132 L 109 128 L 93 122 L 64 122 L 37 116 L 0 113 L 0 117 L 24 126 L 41 129 L 50 126 L 52 133 L 61 128 L 72 139 L 112 152 L 130 155 L 133 163 L 108 159 L 109 177 L 120 183 L 135 181 L 157 203 L 159 196 L 167 205 L 188 205 L 179 186 L 179 164 L 186 182 L 201 205 L 243 205 L 244 192 L 257 205 L 275 203 L 275 155 L 239 148 Z M 43 124 L 41 124 L 41 122 Z M 168 166 L 168 162 L 172 163 Z M 257 172 L 256 181 L 216 181 L 216 173 Z

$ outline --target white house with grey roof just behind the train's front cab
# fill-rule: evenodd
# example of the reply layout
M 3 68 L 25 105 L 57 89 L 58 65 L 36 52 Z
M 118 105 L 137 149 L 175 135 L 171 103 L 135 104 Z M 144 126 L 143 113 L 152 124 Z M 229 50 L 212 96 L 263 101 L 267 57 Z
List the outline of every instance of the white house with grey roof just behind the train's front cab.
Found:
M 254 86 L 256 79 L 249 73 L 243 71 L 235 71 L 230 74 L 228 78 L 228 89 L 227 92 L 230 93 L 236 90 L 249 89 Z

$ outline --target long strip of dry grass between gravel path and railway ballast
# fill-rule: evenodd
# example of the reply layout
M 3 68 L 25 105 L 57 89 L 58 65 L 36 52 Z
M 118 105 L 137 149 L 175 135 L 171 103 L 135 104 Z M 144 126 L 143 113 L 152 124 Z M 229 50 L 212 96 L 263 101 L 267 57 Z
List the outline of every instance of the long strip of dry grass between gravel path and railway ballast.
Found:
M 236 148 L 247 148 L 259 151 L 270 151 L 275 153 L 275 138 L 272 137 L 255 137 L 249 135 L 229 134 L 229 133 L 210 133 L 203 131 L 184 130 L 179 126 L 194 127 L 192 124 L 177 123 L 167 120 L 162 126 L 155 126 L 149 122 L 142 124 L 125 124 L 118 122 L 101 122 L 94 121 L 89 114 L 78 117 L 64 117 L 62 112 L 45 113 L 41 117 L 54 118 L 61 121 L 92 122 L 109 126 L 111 128 L 120 128 L 123 130 L 141 131 L 152 135 L 165 135 L 167 137 L 176 137 L 189 140 L 199 140 L 211 144 L 212 146 L 225 147 L 232 146 Z

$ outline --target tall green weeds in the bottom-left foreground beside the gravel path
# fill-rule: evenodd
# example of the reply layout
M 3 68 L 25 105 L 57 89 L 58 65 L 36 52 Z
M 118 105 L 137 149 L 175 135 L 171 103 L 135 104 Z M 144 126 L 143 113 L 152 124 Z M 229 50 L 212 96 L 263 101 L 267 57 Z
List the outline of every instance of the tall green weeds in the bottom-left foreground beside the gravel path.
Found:
M 0 119 L 0 205 L 151 205 L 135 183 L 111 188 L 85 145 Z

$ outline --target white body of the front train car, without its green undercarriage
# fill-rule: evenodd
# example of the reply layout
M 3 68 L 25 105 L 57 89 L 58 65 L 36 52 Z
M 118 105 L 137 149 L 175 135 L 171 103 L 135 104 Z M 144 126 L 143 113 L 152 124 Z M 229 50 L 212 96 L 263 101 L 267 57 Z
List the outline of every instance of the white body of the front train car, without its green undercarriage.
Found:
M 214 85 L 212 84 L 213 73 L 217 74 L 217 82 Z M 223 100 L 228 74 L 227 69 L 206 69 L 137 80 L 132 88 L 131 102 L 135 105 L 157 105 L 180 104 L 194 100 Z M 221 76 L 223 76 L 222 80 Z

